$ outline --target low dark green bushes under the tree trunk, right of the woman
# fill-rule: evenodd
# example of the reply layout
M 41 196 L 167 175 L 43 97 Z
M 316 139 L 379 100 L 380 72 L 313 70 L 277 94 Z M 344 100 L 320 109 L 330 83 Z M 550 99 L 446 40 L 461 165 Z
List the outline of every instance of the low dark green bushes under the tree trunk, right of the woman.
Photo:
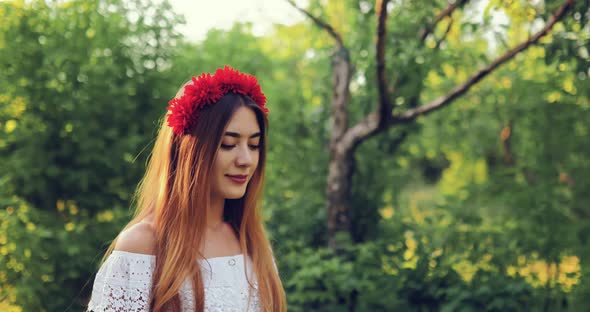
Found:
M 357 244 L 341 255 L 290 250 L 281 255 L 281 271 L 289 276 L 285 287 L 294 311 L 519 311 L 538 308 L 543 298 L 524 280 L 497 272 L 480 271 L 465 282 L 445 255 L 434 257 L 436 266 L 429 265 L 432 258 L 408 266 L 404 254 L 411 249 L 391 251 L 384 241 Z

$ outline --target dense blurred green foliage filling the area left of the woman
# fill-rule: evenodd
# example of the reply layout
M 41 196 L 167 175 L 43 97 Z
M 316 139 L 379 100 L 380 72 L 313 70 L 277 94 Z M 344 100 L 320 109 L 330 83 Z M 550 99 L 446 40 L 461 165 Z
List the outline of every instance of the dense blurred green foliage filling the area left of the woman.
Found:
M 82 309 L 174 92 L 167 11 L 0 3 L 0 298 L 25 311 Z

